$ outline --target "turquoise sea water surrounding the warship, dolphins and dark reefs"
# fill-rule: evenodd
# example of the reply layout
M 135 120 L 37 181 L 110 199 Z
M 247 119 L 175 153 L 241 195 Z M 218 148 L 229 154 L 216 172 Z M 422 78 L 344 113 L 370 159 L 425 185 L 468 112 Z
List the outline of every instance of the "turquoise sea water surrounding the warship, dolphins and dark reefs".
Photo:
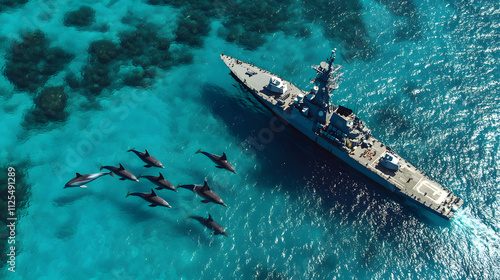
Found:
M 251 17 L 262 3 L 254 2 L 257 10 L 249 16 L 238 14 L 250 9 L 247 2 L 236 8 L 226 1 L 157 2 L 162 1 L 27 1 L 0 13 L 1 165 L 27 174 L 30 187 L 28 206 L 18 213 L 16 272 L 4 266 L 2 277 L 500 277 L 498 3 L 363 0 L 354 8 L 340 1 L 318 8 L 286 1 L 287 7 L 269 12 L 275 16 L 264 23 L 276 27 L 265 30 Z M 91 25 L 65 26 L 67 12 L 81 5 L 94 9 Z M 280 13 L 286 17 L 276 21 Z M 193 28 L 197 32 L 183 39 L 178 25 L 186 14 L 203 18 L 206 32 Z M 344 25 L 331 20 L 352 14 Z M 121 33 L 144 22 L 155 24 L 177 57 L 168 67 L 156 67 L 146 87 L 124 86 L 124 77 L 140 66 L 119 55 L 105 64 L 113 74 L 102 92 L 69 86 L 68 74 L 85 81 L 91 42 L 120 44 Z M 244 36 L 228 39 L 232 28 L 259 43 L 251 45 Z M 20 88 L 5 69 L 14 42 L 36 29 L 51 47 L 73 57 L 34 90 Z M 291 129 L 249 149 L 248 140 L 271 127 L 272 115 L 228 75 L 219 54 L 307 89 L 314 74 L 309 66 L 332 48 L 344 71 L 335 103 L 355 108 L 374 135 L 464 199 L 450 222 L 420 217 Z M 152 53 L 137 52 L 138 60 Z M 181 54 L 192 60 L 179 59 Z M 30 123 L 26 116 L 36 94 L 43 86 L 61 85 L 68 94 L 66 117 Z M 203 204 L 183 189 L 157 192 L 171 209 L 125 198 L 127 191 L 149 191 L 153 185 L 144 179 L 106 176 L 87 189 L 63 189 L 75 172 L 95 173 L 119 162 L 136 175 L 157 175 L 158 169 L 143 168 L 127 153 L 130 148 L 147 148 L 175 185 L 207 178 L 228 207 Z M 194 154 L 199 148 L 225 152 L 237 174 L 214 168 Z M 211 236 L 187 219 L 208 213 L 230 237 Z

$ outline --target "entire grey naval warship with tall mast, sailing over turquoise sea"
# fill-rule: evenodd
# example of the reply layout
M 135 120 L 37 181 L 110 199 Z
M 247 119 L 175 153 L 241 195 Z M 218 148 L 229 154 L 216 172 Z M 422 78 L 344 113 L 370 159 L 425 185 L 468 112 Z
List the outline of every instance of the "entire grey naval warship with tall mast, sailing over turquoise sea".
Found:
M 220 57 L 231 75 L 273 114 L 407 205 L 425 210 L 418 212 L 449 220 L 462 206 L 461 198 L 375 138 L 353 110 L 330 102 L 342 76 L 334 64 L 335 51 L 313 66 L 317 76 L 308 92 L 253 64 Z

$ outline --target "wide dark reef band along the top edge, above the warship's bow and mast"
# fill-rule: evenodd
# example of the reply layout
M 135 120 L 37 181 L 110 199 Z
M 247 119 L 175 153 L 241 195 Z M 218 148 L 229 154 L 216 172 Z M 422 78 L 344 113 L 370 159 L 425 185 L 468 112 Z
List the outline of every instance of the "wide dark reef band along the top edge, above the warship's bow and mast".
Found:
M 266 35 L 278 31 L 308 37 L 310 33 L 300 24 L 308 22 L 321 25 L 330 40 L 340 39 L 347 59 L 371 59 L 376 51 L 370 42 L 361 17 L 359 1 L 207 1 L 149 0 L 152 5 L 172 5 L 182 10 L 175 34 L 177 41 L 199 47 L 210 31 L 210 21 L 218 18 L 224 28 L 218 35 L 227 42 L 234 42 L 245 49 L 255 50 L 266 43 Z M 297 4 L 303 8 L 299 14 Z M 305 22 L 305 21 L 304 21 Z

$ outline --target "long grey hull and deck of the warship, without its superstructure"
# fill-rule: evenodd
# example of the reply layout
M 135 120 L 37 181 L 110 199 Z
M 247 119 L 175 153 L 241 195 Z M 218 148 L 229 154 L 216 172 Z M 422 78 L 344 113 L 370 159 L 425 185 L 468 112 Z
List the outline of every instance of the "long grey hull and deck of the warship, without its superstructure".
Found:
M 297 97 L 307 95 L 307 93 L 290 82 L 282 80 L 281 86 L 286 89 L 284 93 L 269 90 L 268 81 L 273 78 L 280 79 L 277 75 L 224 54 L 221 55 L 221 58 L 230 69 L 232 76 L 273 114 L 304 134 L 328 153 L 403 198 L 407 205 L 416 206 L 419 210 L 426 210 L 419 212 L 431 218 L 437 216 L 447 220 L 451 219 L 458 208 L 462 206 L 463 200 L 461 198 L 425 175 L 371 134 L 365 136 L 363 140 L 369 145 L 356 145 L 353 147 L 353 145 L 347 145 L 339 141 L 339 139 L 343 138 L 334 137 L 336 135 L 333 132 L 322 130 L 321 127 L 324 129 L 324 125 L 311 117 L 309 113 L 304 113 L 303 107 L 305 106 L 297 106 Z M 344 112 L 340 112 L 340 109 Z M 332 119 L 329 119 L 327 123 L 331 121 L 331 124 L 333 124 L 334 118 L 340 124 L 342 121 L 352 122 L 356 118 L 348 109 L 347 113 L 345 111 L 346 108 L 344 107 L 336 108 Z M 334 126 L 333 128 L 337 135 L 343 134 L 346 139 L 349 139 L 341 131 L 341 125 L 338 125 L 338 127 L 335 128 Z M 354 135 L 353 139 L 350 140 L 354 142 L 356 141 L 355 138 L 361 138 L 361 136 Z M 386 155 L 397 157 L 400 166 L 398 170 L 392 170 L 382 164 Z

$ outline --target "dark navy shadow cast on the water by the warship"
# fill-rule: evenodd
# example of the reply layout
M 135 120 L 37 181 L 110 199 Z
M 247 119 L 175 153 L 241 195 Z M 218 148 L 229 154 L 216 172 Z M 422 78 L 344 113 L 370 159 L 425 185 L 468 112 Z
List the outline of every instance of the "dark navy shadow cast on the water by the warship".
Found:
M 201 92 L 202 102 L 212 115 L 222 120 L 228 132 L 241 143 L 270 127 L 274 115 L 245 89 L 236 87 L 229 91 L 205 84 Z M 276 126 L 281 124 L 276 122 Z M 248 175 L 259 178 L 257 188 L 281 185 L 290 192 L 290 197 L 296 198 L 303 196 L 305 190 L 314 190 L 325 201 L 324 213 L 330 212 L 332 205 L 340 205 L 338 215 L 344 215 L 343 220 L 353 222 L 364 217 L 381 236 L 398 228 L 408 230 L 400 224 L 419 217 L 415 210 L 402 203 L 402 198 L 328 155 L 289 126 L 274 133 L 272 141 L 263 145 L 263 149 L 252 150 L 249 157 L 254 154 L 260 168 L 248 171 L 254 173 Z

